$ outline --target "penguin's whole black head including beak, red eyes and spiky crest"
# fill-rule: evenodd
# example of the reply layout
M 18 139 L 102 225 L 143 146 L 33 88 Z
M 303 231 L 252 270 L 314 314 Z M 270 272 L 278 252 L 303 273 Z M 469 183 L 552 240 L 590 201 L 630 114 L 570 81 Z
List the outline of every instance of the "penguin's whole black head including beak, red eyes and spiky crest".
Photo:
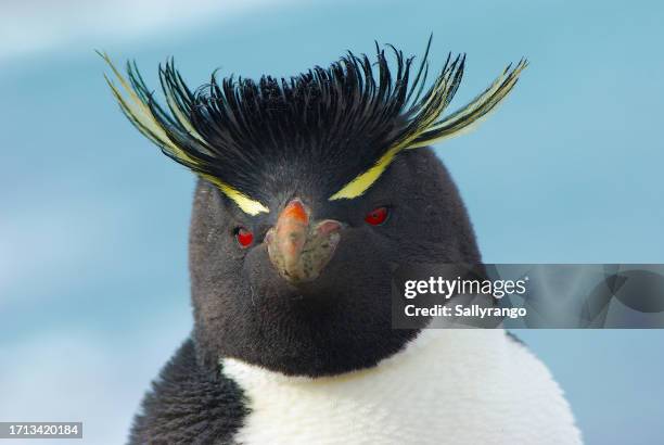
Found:
M 376 76 L 348 53 L 290 79 L 213 76 L 194 92 L 169 62 L 167 107 L 135 65 L 127 80 L 104 55 L 125 114 L 200 177 L 190 271 L 204 365 L 233 357 L 310 377 L 372 367 L 418 333 L 392 329 L 395 268 L 480 262 L 457 189 L 425 147 L 490 112 L 525 62 L 443 116 L 464 58 L 448 56 L 424 89 L 426 53 L 411 69 L 394 50 L 396 73 L 379 49 Z

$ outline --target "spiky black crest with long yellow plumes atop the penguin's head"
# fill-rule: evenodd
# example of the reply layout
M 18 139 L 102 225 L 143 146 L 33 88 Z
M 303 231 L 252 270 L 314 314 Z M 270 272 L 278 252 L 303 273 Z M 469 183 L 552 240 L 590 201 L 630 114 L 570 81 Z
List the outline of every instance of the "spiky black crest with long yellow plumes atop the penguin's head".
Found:
M 161 105 L 127 64 L 128 80 L 102 54 L 119 87 L 106 78 L 131 123 L 162 151 L 217 185 L 239 207 L 269 212 L 272 193 L 294 178 L 315 178 L 329 200 L 361 195 L 403 150 L 459 134 L 514 87 L 525 60 L 459 111 L 443 116 L 463 75 L 464 55 L 448 55 L 426 87 L 431 39 L 422 61 L 376 46 L 376 62 L 348 52 L 328 68 L 258 81 L 228 77 L 192 91 L 173 60 L 159 66 Z M 374 67 L 374 66 L 378 67 Z

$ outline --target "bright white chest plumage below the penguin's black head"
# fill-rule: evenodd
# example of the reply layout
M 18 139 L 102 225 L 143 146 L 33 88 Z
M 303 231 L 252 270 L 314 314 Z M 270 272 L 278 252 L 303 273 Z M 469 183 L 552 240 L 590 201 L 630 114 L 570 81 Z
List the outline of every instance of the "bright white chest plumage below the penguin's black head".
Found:
M 234 359 L 242 444 L 577 444 L 546 368 L 499 330 L 425 330 L 378 367 L 289 378 Z

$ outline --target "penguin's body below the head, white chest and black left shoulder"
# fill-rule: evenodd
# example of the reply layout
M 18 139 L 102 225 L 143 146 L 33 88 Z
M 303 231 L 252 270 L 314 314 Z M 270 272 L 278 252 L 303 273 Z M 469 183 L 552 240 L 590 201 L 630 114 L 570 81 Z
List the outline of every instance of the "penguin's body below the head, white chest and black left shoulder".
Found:
M 442 359 L 446 357 L 447 359 Z M 580 444 L 547 368 L 501 330 L 427 329 L 378 366 L 289 377 L 187 341 L 135 421 L 131 444 Z

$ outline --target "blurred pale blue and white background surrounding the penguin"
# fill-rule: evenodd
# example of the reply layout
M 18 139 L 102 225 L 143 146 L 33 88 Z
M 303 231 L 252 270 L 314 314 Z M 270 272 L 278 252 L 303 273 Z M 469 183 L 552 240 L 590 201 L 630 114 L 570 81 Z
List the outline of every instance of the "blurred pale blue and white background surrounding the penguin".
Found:
M 374 39 L 420 54 L 433 31 L 433 66 L 468 53 L 457 106 L 526 55 L 498 113 L 436 149 L 484 259 L 664 263 L 662 23 L 656 1 L 0 3 L 0 420 L 82 420 L 85 443 L 122 443 L 192 326 L 193 177 L 126 122 L 93 49 L 155 87 L 175 55 L 196 86 Z M 519 334 L 588 444 L 663 442 L 663 331 Z

